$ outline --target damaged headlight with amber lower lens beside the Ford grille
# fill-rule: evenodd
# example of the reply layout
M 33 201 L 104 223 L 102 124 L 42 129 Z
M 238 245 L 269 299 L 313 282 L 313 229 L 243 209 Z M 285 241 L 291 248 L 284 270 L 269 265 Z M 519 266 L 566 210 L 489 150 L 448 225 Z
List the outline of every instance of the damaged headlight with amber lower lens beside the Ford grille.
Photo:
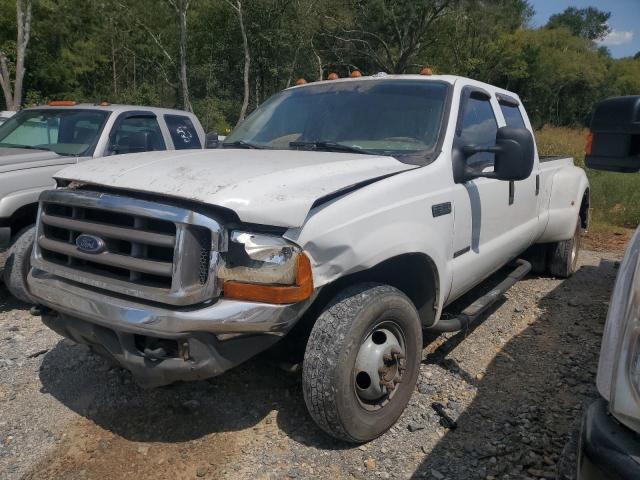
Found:
M 282 304 L 313 293 L 309 258 L 282 237 L 233 231 L 223 260 L 218 278 L 226 298 Z

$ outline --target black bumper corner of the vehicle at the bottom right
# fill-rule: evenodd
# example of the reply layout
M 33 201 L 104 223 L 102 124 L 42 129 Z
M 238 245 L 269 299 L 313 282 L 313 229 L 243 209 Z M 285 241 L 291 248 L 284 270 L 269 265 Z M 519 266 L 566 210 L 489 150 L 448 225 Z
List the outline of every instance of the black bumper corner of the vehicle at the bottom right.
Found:
M 640 478 L 640 435 L 609 414 L 604 399 L 593 402 L 582 419 L 578 480 Z

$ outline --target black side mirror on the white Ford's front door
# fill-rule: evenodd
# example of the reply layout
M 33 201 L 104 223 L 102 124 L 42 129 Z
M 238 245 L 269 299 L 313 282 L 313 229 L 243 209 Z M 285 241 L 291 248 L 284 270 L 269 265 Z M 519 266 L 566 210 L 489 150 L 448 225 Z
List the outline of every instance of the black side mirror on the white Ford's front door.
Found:
M 486 165 L 468 165 L 468 158 L 479 152 L 495 154 L 493 172 L 482 172 Z M 480 177 L 504 181 L 524 180 L 531 175 L 534 160 L 535 147 L 531 132 L 526 128 L 501 127 L 496 134 L 495 146 L 466 145 L 454 155 L 454 180 L 456 183 L 465 183 Z

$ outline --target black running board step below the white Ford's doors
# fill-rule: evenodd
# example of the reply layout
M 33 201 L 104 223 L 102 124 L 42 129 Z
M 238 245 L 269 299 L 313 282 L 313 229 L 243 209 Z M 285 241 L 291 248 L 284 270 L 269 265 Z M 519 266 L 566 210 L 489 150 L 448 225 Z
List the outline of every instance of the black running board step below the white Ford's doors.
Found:
M 526 260 L 518 259 L 514 263 L 516 268 L 513 272 L 490 292 L 465 308 L 457 317 L 440 319 L 438 323 L 426 330 L 429 332 L 457 332 L 468 329 L 487 308 L 531 271 L 531 264 Z

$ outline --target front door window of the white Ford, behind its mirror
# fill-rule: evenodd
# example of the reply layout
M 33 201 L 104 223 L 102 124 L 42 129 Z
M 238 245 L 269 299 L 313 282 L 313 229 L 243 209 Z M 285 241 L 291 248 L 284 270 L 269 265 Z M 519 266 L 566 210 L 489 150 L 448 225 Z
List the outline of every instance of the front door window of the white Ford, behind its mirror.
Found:
M 491 102 L 485 98 L 470 96 L 462 114 L 458 145 L 493 147 L 496 144 L 497 133 L 498 122 L 493 114 Z M 470 165 L 486 163 L 489 166 L 493 165 L 494 159 L 493 153 L 480 152 L 469 157 L 467 162 Z

